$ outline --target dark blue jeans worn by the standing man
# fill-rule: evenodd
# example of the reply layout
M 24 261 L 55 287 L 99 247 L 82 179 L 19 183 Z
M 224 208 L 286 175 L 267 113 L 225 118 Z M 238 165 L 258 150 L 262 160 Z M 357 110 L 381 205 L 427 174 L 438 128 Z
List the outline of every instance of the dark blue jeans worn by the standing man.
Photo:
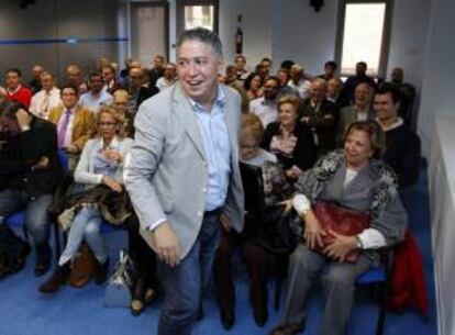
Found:
M 180 264 L 171 268 L 158 261 L 158 273 L 165 290 L 158 335 L 191 334 L 203 291 L 210 282 L 220 235 L 219 214 L 206 214 L 193 246 Z

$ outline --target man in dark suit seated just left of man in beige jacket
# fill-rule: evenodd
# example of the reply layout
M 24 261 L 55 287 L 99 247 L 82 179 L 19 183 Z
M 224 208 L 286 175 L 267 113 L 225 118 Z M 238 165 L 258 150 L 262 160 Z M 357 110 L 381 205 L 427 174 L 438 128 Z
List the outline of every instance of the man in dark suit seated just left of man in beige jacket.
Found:
M 334 148 L 336 107 L 326 98 L 326 82 L 315 78 L 310 83 L 310 98 L 303 100 L 299 110 L 300 121 L 313 132 L 318 157 Z

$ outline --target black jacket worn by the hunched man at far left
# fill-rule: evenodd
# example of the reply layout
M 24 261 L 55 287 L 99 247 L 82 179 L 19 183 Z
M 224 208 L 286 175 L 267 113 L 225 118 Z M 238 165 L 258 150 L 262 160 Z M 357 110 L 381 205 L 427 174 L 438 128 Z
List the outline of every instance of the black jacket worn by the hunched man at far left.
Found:
M 42 157 L 48 166 L 34 169 Z M 0 190 L 24 190 L 29 198 L 53 193 L 63 175 L 57 131 L 53 123 L 33 116 L 30 130 L 8 137 L 0 147 Z

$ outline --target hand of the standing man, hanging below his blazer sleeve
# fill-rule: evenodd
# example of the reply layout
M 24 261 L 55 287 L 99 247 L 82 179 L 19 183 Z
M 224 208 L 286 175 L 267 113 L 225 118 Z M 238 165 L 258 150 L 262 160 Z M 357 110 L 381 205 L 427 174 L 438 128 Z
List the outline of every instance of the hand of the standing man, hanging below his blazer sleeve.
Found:
M 153 231 L 154 250 L 159 259 L 170 267 L 175 267 L 180 261 L 180 245 L 173 227 L 168 222 L 159 224 Z

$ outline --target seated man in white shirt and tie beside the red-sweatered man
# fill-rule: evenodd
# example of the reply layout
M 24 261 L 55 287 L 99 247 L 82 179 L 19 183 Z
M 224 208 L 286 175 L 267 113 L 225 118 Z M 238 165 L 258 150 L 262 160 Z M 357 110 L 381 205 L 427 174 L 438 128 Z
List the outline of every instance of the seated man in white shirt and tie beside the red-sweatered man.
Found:
M 62 103 L 60 90 L 55 86 L 53 74 L 43 71 L 40 78 L 43 89 L 32 97 L 30 112 L 36 116 L 47 119 L 49 111 Z

